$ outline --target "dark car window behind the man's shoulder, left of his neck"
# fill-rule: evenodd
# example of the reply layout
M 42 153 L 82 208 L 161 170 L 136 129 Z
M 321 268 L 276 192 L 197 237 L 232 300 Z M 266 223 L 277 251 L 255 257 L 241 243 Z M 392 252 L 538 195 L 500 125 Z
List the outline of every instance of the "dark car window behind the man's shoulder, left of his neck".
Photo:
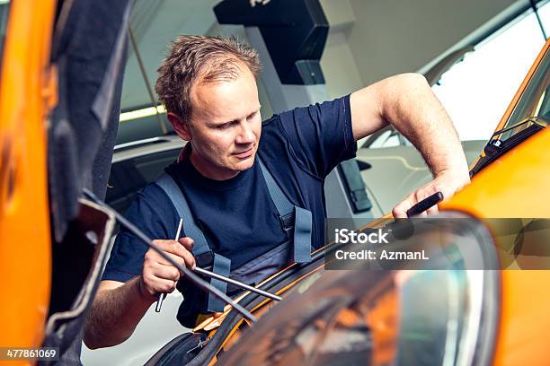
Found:
M 157 179 L 177 159 L 180 150 L 149 153 L 113 163 L 105 202 L 119 213 L 126 213 L 137 191 Z

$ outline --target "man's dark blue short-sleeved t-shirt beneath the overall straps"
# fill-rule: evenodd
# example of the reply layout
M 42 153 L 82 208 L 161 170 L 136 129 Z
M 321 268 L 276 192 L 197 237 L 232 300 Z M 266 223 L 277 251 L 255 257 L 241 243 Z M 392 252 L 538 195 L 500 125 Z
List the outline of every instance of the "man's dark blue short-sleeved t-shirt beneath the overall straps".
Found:
M 312 246 L 324 245 L 324 178 L 355 156 L 350 97 L 292 109 L 262 122 L 258 153 L 292 204 L 313 214 Z M 212 250 L 242 266 L 287 240 L 258 160 L 235 178 L 207 179 L 189 158 L 166 171 L 184 189 L 195 221 Z M 127 218 L 153 239 L 173 239 L 178 213 L 164 190 L 149 184 Z M 103 280 L 126 282 L 141 274 L 147 247 L 129 231 L 115 240 Z

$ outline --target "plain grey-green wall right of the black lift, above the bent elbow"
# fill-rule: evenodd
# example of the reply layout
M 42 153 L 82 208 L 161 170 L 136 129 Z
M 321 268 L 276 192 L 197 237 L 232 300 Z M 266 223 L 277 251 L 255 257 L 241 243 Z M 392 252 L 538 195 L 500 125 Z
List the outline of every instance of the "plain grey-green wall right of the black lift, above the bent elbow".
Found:
M 350 0 L 362 83 L 421 69 L 514 3 L 528 0 Z

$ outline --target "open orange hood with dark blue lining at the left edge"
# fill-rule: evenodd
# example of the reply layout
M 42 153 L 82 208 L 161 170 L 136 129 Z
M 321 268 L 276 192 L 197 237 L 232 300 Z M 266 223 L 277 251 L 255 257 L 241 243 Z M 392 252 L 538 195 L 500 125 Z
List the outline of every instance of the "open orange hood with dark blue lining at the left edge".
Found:
M 114 230 L 112 213 L 82 192 L 105 195 L 129 4 L 9 4 L 0 88 L 0 272 L 11 294 L 0 305 L 0 344 L 56 346 L 65 363 L 80 363 L 81 329 Z

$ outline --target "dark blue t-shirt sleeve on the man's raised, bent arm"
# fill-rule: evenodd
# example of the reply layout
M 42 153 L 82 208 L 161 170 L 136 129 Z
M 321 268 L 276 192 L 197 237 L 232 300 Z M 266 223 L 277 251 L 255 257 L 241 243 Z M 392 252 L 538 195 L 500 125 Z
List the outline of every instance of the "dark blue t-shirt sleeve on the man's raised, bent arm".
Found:
M 350 96 L 279 114 L 297 160 L 317 177 L 326 177 L 342 161 L 355 157 Z

